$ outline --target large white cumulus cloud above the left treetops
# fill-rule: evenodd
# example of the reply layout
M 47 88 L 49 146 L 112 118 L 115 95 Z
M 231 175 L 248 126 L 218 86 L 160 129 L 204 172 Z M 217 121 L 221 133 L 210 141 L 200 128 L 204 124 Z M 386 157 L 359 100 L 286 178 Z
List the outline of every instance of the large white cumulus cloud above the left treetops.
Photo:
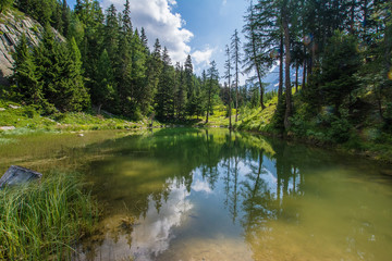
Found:
M 124 0 L 103 0 L 102 7 L 107 9 L 114 4 L 118 11 L 124 9 Z M 130 1 L 131 17 L 134 27 L 144 27 L 152 46 L 158 38 L 161 46 L 166 46 L 173 61 L 184 62 L 191 52 L 188 42 L 194 36 L 184 28 L 185 22 L 179 13 L 173 13 L 175 0 L 132 0 Z

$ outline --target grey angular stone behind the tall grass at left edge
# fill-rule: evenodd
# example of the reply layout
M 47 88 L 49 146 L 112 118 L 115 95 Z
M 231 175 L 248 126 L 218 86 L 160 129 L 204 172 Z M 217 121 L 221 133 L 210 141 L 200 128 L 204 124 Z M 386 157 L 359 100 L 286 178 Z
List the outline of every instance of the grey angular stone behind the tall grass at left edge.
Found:
M 0 178 L 0 189 L 4 186 L 21 185 L 27 182 L 40 179 L 41 177 L 42 174 L 39 172 L 35 172 L 23 166 L 12 165 Z

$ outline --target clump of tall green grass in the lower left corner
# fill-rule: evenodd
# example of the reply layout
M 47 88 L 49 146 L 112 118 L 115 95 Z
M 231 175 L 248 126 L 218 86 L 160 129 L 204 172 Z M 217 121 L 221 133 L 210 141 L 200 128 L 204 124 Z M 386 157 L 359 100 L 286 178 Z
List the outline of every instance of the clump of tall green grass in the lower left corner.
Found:
M 98 208 L 77 173 L 0 190 L 0 260 L 71 259 Z

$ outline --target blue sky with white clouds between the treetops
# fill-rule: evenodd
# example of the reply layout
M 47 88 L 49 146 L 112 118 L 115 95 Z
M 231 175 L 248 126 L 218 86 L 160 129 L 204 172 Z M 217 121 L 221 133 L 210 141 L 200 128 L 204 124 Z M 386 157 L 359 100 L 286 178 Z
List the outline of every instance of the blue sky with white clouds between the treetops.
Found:
M 113 3 L 122 11 L 125 0 L 99 2 L 103 10 Z M 69 4 L 73 8 L 75 0 L 69 0 Z M 183 64 L 189 53 L 197 75 L 215 60 L 223 76 L 225 45 L 230 45 L 234 29 L 242 32 L 249 3 L 247 0 L 131 0 L 130 4 L 133 26 L 145 28 L 151 49 L 159 38 L 173 64 Z M 244 80 L 242 76 L 240 84 L 245 84 Z

